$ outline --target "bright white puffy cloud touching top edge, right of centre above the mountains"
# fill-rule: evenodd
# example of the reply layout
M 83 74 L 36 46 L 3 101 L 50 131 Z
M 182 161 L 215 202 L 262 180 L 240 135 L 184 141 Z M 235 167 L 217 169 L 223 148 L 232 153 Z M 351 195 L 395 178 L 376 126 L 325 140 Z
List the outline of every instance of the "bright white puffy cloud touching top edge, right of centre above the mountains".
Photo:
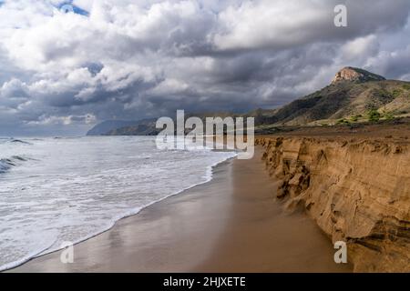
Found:
M 333 1 L 244 1 L 220 14 L 219 49 L 283 48 L 319 38 L 333 23 Z

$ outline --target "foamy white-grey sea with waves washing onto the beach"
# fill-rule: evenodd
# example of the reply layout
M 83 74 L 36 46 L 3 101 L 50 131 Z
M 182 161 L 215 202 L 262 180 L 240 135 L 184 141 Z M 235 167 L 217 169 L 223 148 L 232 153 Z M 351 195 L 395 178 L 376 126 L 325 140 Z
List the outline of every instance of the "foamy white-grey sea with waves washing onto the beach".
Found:
M 206 183 L 233 156 L 159 150 L 154 136 L 0 138 L 0 270 Z

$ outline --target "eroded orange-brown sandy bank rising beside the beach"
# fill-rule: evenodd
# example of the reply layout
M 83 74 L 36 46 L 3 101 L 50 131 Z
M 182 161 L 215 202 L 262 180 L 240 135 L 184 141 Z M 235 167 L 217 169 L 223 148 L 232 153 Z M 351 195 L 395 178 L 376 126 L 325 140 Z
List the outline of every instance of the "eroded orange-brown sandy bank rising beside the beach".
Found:
M 410 152 L 405 143 L 261 137 L 287 209 L 302 207 L 354 271 L 410 271 Z

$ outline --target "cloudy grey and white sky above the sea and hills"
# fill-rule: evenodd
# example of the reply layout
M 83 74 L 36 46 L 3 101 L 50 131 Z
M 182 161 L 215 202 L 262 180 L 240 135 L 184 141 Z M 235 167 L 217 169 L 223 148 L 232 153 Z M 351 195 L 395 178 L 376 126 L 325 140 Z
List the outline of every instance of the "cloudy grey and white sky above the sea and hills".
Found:
M 347 65 L 410 80 L 409 12 L 408 0 L 0 0 L 0 135 L 274 108 Z

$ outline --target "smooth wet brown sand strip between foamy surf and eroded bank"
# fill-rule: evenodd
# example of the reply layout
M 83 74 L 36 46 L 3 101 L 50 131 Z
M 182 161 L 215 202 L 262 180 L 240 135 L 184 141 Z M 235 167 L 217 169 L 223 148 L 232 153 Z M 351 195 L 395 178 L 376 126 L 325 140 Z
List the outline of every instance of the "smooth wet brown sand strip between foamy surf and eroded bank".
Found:
M 212 181 L 124 218 L 74 247 L 37 257 L 12 272 L 350 272 L 304 214 L 284 214 L 261 163 L 231 160 Z

